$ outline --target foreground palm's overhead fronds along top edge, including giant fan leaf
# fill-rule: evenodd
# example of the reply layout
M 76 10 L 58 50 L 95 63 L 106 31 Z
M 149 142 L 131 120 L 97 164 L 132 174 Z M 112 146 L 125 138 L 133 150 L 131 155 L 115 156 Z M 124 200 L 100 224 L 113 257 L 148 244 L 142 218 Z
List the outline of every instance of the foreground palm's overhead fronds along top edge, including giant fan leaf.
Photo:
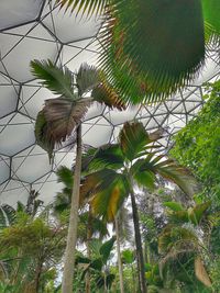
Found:
M 210 45 L 219 47 L 218 0 L 57 0 L 87 15 L 106 16 L 100 64 L 130 102 L 175 92 L 200 71 Z M 132 25 L 131 25 L 132 24 Z

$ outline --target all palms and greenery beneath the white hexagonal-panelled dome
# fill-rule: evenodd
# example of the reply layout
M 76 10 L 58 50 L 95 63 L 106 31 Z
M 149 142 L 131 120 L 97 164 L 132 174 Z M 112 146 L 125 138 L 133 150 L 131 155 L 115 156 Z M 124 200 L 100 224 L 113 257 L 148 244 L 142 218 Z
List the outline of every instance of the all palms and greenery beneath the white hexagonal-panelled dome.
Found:
M 138 121 L 114 144 L 84 154 L 81 142 L 91 103 L 121 111 L 194 79 L 209 45 L 219 46 L 219 1 L 56 2 L 106 15 L 102 70 L 31 63 L 58 94 L 37 115 L 36 142 L 53 160 L 75 135 L 76 158 L 57 171 L 64 189 L 51 205 L 31 191 L 25 204 L 0 207 L 0 292 L 220 292 L 220 83 L 207 86 L 208 102 L 176 136 L 178 162 L 163 155 L 161 131 Z

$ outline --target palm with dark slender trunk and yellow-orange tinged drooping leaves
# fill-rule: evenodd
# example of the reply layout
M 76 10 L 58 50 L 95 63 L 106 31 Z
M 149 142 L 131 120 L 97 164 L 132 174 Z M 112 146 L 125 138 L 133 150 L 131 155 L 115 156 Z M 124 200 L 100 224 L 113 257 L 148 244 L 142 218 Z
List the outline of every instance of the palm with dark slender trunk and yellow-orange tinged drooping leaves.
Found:
M 90 150 L 87 158 L 90 173 L 85 177 L 80 198 L 89 200 L 95 214 L 112 222 L 124 200 L 130 195 L 135 232 L 138 271 L 141 292 L 146 292 L 144 260 L 140 234 L 135 187 L 154 188 L 156 176 L 176 183 L 193 194 L 193 177 L 158 151 L 160 132 L 147 134 L 142 123 L 125 123 L 118 144 Z

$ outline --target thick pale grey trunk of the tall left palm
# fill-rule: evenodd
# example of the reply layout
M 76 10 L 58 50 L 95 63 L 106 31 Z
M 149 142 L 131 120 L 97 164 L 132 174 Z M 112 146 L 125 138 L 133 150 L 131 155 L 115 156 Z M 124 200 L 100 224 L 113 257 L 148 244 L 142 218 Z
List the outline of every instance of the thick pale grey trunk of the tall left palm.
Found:
M 76 165 L 74 172 L 74 188 L 72 194 L 72 209 L 69 215 L 67 244 L 66 244 L 66 251 L 64 259 L 62 293 L 73 293 L 75 247 L 77 240 L 77 224 L 78 224 L 78 207 L 79 207 L 80 173 L 81 173 L 81 125 L 77 127 Z

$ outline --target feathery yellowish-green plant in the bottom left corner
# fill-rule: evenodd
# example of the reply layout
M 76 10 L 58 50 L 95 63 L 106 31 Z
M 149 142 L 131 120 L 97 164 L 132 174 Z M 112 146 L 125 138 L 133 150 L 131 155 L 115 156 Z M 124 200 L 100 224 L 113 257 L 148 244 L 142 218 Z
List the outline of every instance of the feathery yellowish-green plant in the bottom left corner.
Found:
M 65 236 L 66 229 L 52 224 L 46 213 L 33 217 L 14 211 L 13 222 L 0 233 L 0 281 L 6 292 L 45 292 L 56 278 Z

